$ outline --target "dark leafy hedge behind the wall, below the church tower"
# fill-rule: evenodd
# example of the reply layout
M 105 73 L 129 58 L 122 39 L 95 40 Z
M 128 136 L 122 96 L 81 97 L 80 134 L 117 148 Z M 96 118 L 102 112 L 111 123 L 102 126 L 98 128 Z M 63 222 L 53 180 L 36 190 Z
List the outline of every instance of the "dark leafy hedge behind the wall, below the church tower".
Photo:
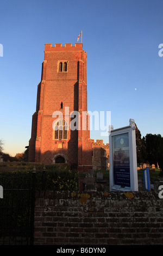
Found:
M 44 164 L 17 166 L 16 170 L 0 172 L 0 185 L 3 188 L 29 188 L 32 186 L 32 173 L 35 167 L 35 190 L 42 190 Z M 68 164 L 45 166 L 45 190 L 79 190 L 79 174 L 77 170 L 70 170 Z M 30 169 L 30 170 L 29 170 Z M 25 181 L 25 182 L 24 182 Z M 25 185 L 26 184 L 26 185 Z

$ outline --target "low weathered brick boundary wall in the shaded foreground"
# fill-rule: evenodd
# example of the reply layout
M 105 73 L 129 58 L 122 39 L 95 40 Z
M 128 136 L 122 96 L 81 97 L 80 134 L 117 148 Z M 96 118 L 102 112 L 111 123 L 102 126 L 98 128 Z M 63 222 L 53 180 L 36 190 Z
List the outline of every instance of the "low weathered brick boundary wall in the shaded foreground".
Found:
M 161 245 L 158 192 L 35 194 L 34 245 Z

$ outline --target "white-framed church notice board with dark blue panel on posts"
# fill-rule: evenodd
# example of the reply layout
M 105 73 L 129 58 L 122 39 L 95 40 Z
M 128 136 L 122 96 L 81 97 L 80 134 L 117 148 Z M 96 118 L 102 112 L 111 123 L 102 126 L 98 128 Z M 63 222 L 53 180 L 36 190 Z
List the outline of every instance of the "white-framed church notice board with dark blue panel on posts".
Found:
M 138 191 L 135 121 L 109 129 L 110 191 Z

